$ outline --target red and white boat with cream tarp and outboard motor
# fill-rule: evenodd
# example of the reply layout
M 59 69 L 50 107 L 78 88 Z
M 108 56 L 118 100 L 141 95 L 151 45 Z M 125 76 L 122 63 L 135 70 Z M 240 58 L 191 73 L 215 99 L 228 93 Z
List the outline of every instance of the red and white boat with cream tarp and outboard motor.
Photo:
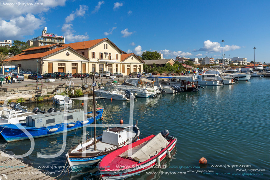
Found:
M 102 179 L 125 179 L 159 166 L 176 145 L 176 138 L 168 135 L 164 130 L 108 154 L 98 165 Z

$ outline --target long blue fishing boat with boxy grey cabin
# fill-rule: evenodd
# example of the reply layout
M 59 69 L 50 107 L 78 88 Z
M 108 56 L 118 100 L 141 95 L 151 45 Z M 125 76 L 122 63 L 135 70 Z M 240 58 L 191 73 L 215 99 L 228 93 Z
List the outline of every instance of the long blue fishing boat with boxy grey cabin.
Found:
M 52 113 L 28 115 L 26 123 L 21 124 L 3 124 L 0 125 L 0 132 L 8 142 L 29 139 L 29 137 L 40 138 L 72 131 L 82 128 L 100 119 L 103 108 L 97 109 L 94 113 L 84 113 L 83 110 L 74 109 L 66 111 L 56 111 Z M 87 118 L 85 118 L 85 115 Z

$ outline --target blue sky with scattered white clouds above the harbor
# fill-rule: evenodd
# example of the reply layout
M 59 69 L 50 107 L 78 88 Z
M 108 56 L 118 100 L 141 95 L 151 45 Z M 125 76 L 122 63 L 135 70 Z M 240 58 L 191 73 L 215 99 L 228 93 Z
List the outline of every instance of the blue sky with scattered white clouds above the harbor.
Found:
M 108 37 L 125 52 L 165 58 L 246 57 L 270 62 L 270 1 L 66 1 L 0 0 L 0 40 L 26 41 L 47 32 L 66 43 Z

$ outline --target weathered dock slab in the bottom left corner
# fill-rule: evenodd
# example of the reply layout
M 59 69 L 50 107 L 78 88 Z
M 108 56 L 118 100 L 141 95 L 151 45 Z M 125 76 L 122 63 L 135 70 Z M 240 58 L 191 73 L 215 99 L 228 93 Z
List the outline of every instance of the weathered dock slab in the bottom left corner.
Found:
M 12 158 L 12 155 L 0 151 L 0 179 L 55 180 L 51 176 L 44 174 L 44 172 L 33 168 L 31 163 L 29 165 L 19 159 Z

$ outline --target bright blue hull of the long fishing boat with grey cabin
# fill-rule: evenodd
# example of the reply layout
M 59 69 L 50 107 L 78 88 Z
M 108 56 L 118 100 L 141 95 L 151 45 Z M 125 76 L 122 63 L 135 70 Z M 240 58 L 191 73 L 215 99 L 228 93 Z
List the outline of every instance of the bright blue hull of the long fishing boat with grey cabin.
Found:
M 103 109 L 96 111 L 96 119 L 100 119 L 103 113 Z M 87 122 L 88 121 L 88 122 Z M 23 127 L 25 130 L 27 130 L 33 138 L 40 138 L 40 137 L 45 137 L 45 136 L 52 136 L 55 134 L 63 133 L 64 132 L 64 127 L 66 127 L 66 131 L 72 131 L 77 128 L 82 128 L 84 125 L 91 124 L 93 123 L 94 118 L 87 118 L 85 121 L 75 121 L 71 123 L 59 123 L 56 125 L 51 125 L 51 126 L 43 126 L 43 127 L 29 127 L 26 126 L 25 123 L 21 124 L 6 124 L 6 125 L 0 125 L 0 132 L 2 131 L 1 135 L 4 137 L 4 139 L 7 142 L 12 142 L 12 141 L 20 141 L 20 140 L 25 140 L 29 139 L 28 136 L 19 128 Z M 74 124 L 74 125 L 73 125 Z M 19 127 L 17 127 L 17 125 Z M 57 128 L 56 131 L 50 131 L 54 128 Z

